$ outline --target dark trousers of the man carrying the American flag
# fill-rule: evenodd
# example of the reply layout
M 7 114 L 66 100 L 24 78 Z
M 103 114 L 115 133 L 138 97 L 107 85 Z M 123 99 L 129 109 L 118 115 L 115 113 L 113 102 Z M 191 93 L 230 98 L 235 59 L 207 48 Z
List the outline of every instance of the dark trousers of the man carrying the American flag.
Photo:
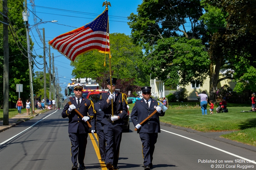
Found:
M 123 125 L 113 126 L 104 125 L 103 132 L 106 139 L 105 162 L 117 165 L 119 158 L 119 149 L 122 139 Z

